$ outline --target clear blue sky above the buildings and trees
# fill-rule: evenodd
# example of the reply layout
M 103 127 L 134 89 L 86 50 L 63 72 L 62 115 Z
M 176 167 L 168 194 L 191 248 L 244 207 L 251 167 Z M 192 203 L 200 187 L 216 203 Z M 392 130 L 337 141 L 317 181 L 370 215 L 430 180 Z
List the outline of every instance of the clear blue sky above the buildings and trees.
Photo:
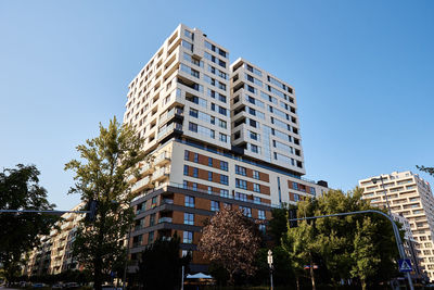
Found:
M 0 1 L 0 167 L 64 164 L 123 118 L 127 86 L 179 23 L 295 87 L 306 177 L 333 188 L 434 166 L 434 1 Z M 431 184 L 432 177 L 422 175 Z

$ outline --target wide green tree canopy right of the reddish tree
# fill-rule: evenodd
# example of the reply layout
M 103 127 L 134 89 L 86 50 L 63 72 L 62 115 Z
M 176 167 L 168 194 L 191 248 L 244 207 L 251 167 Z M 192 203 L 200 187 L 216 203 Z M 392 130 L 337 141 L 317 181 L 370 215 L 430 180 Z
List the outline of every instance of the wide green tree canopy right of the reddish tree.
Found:
M 361 193 L 358 188 L 348 194 L 330 190 L 318 199 L 298 202 L 297 216 L 380 210 L 362 200 Z M 397 274 L 398 251 L 392 225 L 375 214 L 304 220 L 298 227 L 289 228 L 282 247 L 295 272 L 303 273 L 304 266 L 309 265 L 314 287 L 318 275 L 312 265 L 317 265 L 318 272 L 324 273 L 323 277 L 334 286 L 341 279 L 353 278 L 366 288 L 368 283 L 387 281 Z

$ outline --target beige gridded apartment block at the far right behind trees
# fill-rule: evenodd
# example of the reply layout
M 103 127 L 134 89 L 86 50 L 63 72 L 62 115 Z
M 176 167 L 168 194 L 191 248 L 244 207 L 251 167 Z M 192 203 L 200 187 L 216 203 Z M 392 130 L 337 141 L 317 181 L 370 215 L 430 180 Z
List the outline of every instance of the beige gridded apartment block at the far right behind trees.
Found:
M 373 205 L 386 206 L 387 196 L 391 211 L 410 223 L 418 255 L 430 280 L 434 280 L 434 198 L 430 184 L 411 172 L 394 172 L 359 180 L 363 199 Z M 373 179 L 378 179 L 373 182 Z

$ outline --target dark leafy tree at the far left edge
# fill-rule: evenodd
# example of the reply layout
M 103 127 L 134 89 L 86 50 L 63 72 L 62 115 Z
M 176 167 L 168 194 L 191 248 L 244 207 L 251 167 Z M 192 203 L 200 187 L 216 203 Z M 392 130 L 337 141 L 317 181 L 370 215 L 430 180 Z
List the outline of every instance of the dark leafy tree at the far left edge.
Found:
M 35 165 L 16 165 L 0 173 L 0 210 L 52 210 L 47 190 L 39 185 Z M 8 281 L 20 275 L 23 254 L 37 247 L 58 220 L 40 213 L 0 213 L 0 264 Z

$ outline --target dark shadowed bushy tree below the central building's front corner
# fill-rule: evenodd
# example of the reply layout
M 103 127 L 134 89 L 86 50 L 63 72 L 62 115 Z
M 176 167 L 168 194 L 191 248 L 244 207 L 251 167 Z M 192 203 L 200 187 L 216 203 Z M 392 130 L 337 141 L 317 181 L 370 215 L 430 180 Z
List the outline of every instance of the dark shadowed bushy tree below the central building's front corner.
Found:
M 181 267 L 188 266 L 191 253 L 180 256 L 180 239 L 158 238 L 141 254 L 139 279 L 144 289 L 178 289 L 181 285 Z M 188 270 L 186 269 L 186 273 Z

